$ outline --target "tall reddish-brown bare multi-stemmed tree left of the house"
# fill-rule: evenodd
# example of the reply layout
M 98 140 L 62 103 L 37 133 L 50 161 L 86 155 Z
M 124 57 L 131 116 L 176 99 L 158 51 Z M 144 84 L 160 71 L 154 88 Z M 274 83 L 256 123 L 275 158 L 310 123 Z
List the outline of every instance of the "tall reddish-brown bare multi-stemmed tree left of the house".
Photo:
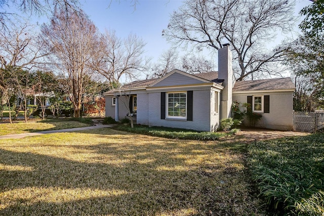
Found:
M 84 12 L 56 12 L 51 23 L 42 26 L 43 41 L 51 64 L 65 80 L 66 91 L 80 117 L 83 94 L 94 71 L 93 61 L 99 56 L 99 35 L 96 26 Z

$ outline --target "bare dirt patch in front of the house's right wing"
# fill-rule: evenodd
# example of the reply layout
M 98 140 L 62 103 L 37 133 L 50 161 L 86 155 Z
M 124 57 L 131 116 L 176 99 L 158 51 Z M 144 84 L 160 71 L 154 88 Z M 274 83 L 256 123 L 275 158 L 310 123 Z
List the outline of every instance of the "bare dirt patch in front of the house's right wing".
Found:
M 260 129 L 260 128 L 244 128 L 236 134 L 237 138 L 246 139 L 246 141 L 270 140 L 278 139 L 283 137 L 294 137 L 294 136 L 306 136 L 309 133 L 292 132 L 292 131 L 275 131 L 271 129 Z

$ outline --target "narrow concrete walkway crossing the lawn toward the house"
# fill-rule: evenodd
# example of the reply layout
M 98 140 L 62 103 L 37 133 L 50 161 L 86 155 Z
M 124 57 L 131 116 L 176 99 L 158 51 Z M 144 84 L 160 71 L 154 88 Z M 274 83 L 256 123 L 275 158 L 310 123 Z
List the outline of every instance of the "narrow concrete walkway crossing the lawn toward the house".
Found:
M 64 132 L 73 132 L 73 131 L 84 131 L 88 129 L 98 129 L 98 128 L 105 128 L 105 127 L 112 127 L 112 124 L 100 124 L 96 126 L 88 126 L 88 127 L 75 127 L 75 128 L 68 128 L 68 129 L 58 129 L 53 131 L 41 131 L 41 132 L 34 132 L 34 133 L 25 133 L 25 134 L 12 134 L 12 135 L 4 135 L 0 136 L 1 139 L 20 139 L 24 137 L 32 137 L 32 136 L 39 136 L 45 134 L 53 134 L 53 133 L 64 133 Z

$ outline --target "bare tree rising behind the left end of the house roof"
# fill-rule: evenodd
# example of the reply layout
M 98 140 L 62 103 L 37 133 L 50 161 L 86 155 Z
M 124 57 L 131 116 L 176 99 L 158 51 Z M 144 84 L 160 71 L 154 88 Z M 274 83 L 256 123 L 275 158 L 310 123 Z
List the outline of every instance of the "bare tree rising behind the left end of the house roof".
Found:
M 138 72 L 147 69 L 149 59 L 144 59 L 145 42 L 135 34 L 121 39 L 115 31 L 106 30 L 101 38 L 100 58 L 93 69 L 111 82 L 118 82 L 122 76 L 136 78 Z

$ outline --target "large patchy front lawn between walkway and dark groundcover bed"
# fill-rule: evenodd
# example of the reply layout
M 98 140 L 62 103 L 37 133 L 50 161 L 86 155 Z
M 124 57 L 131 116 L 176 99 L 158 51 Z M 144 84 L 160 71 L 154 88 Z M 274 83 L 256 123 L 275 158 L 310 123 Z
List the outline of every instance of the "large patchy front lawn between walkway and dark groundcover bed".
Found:
M 0 215 L 264 215 L 244 146 L 109 128 L 0 140 Z

